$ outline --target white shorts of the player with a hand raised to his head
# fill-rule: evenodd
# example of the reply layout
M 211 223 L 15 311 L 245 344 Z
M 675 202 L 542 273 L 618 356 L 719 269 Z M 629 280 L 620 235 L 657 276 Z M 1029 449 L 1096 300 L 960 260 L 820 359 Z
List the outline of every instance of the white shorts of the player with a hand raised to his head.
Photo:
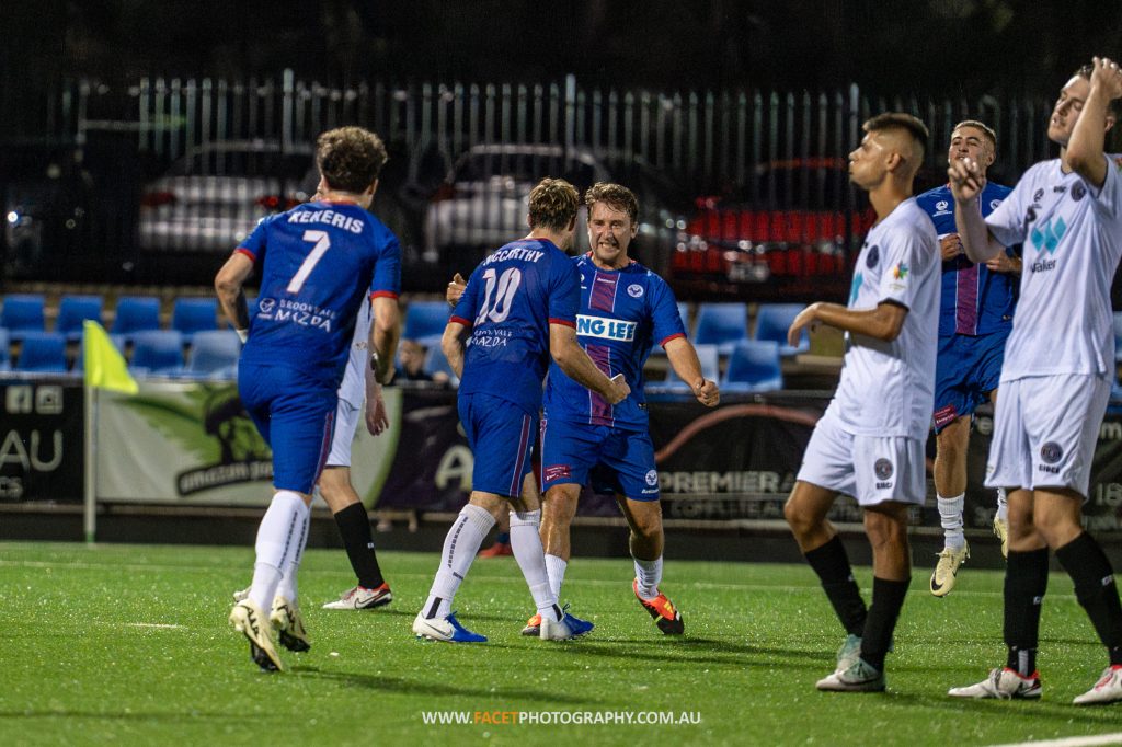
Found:
M 1104 376 L 1061 374 L 1002 381 L 986 487 L 1069 488 L 1086 498 L 1110 398 L 1111 382 Z

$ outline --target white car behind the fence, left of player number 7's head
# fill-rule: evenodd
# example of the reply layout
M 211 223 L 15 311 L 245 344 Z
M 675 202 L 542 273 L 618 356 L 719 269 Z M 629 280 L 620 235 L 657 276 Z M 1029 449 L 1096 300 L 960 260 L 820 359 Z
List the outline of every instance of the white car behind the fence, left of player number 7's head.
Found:
M 312 149 L 227 140 L 187 151 L 140 197 L 146 251 L 228 252 L 266 215 L 307 201 L 319 181 Z

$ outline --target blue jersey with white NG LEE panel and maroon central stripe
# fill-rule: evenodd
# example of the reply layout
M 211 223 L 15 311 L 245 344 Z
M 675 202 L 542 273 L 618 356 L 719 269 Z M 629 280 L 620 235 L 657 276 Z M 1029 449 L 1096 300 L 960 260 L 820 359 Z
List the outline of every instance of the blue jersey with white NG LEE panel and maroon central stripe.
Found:
M 655 342 L 686 335 L 674 294 L 665 280 L 635 261 L 618 270 L 598 268 L 588 255 L 574 261 L 581 287 L 577 340 L 608 377 L 623 374 L 632 393 L 611 406 L 553 363 L 545 386 L 545 417 L 645 431 L 643 365 Z

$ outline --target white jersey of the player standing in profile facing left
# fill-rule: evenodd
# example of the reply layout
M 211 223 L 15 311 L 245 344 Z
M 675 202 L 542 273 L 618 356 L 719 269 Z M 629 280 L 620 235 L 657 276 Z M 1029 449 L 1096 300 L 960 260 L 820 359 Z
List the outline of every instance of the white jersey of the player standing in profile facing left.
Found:
M 939 270 L 935 227 L 914 199 L 896 205 L 865 237 L 848 307 L 892 303 L 908 314 L 892 342 L 846 334 L 842 380 L 830 408 L 850 433 L 927 437 L 935 403 Z

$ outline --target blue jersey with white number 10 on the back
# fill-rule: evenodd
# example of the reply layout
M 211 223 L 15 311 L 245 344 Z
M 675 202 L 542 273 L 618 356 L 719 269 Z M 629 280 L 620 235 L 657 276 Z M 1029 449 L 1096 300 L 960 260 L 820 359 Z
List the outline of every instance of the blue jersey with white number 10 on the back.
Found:
M 488 394 L 527 413 L 542 406 L 550 324 L 576 328 L 580 274 L 545 239 L 513 241 L 479 264 L 451 321 L 471 328 L 460 394 Z

